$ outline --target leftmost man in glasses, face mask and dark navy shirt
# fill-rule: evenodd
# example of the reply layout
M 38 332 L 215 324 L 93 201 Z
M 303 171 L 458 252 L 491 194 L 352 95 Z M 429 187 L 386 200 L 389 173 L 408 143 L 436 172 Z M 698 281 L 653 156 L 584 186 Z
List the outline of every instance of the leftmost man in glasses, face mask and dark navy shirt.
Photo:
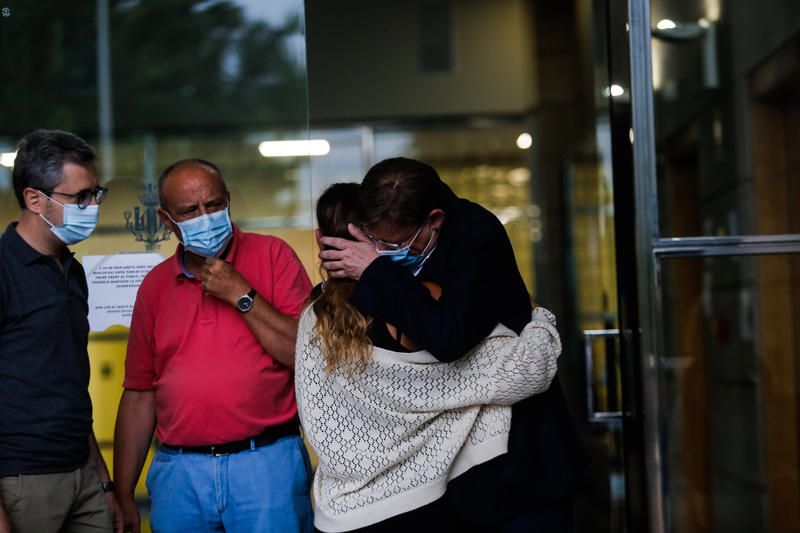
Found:
M 92 430 L 86 276 L 67 248 L 108 192 L 95 159 L 63 131 L 17 147 L 22 212 L 0 237 L 0 533 L 121 531 Z

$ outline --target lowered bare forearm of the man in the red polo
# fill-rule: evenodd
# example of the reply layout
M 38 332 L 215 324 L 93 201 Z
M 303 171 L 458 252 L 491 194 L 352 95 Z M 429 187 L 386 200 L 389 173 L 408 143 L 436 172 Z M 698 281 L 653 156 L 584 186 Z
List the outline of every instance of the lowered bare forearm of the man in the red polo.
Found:
M 114 484 L 119 498 L 133 497 L 155 424 L 155 392 L 125 389 L 114 430 Z

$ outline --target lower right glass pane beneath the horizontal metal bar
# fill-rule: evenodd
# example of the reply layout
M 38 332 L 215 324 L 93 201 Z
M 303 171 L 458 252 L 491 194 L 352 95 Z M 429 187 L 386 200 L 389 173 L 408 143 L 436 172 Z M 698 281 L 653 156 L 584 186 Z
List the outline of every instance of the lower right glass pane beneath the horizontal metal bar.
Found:
M 800 255 L 662 262 L 669 531 L 800 530 Z

